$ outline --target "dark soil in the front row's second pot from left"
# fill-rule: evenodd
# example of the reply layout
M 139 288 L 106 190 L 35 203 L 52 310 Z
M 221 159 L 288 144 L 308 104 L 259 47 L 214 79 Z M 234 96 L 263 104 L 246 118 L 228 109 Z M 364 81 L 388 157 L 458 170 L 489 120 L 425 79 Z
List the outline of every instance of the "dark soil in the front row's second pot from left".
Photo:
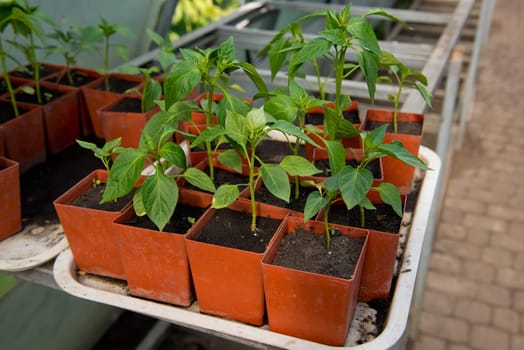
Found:
M 193 226 L 192 221 L 198 220 L 206 211 L 206 208 L 193 207 L 178 203 L 171 220 L 164 227 L 165 232 L 185 234 Z M 147 216 L 135 216 L 125 222 L 126 225 L 158 230 L 156 225 Z

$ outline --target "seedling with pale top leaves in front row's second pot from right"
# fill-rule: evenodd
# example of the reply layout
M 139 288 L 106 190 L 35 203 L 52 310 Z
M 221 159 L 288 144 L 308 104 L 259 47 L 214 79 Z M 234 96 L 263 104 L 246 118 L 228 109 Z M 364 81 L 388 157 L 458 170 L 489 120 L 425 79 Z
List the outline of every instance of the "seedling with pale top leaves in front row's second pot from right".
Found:
M 299 140 L 313 142 L 296 125 L 286 120 L 274 120 L 264 112 L 264 107 L 253 108 L 247 114 L 241 115 L 234 111 L 227 111 L 224 126 L 217 125 L 207 128 L 194 141 L 194 144 L 206 142 L 216 134 L 223 134 L 230 140 L 233 149 L 218 154 L 218 161 L 238 172 L 242 170 L 242 159 L 249 168 L 248 188 L 251 196 L 252 221 L 251 231 L 256 233 L 256 200 L 255 187 L 259 178 L 265 187 L 275 197 L 289 202 L 291 188 L 288 175 L 308 176 L 320 170 L 316 169 L 308 160 L 300 156 L 286 156 L 280 164 L 264 163 L 256 155 L 256 148 L 262 140 L 269 137 L 271 131 L 279 131 L 294 136 Z M 256 167 L 256 164 L 259 167 Z M 224 208 L 233 203 L 239 196 L 241 185 L 224 184 L 218 187 L 213 197 L 213 208 Z

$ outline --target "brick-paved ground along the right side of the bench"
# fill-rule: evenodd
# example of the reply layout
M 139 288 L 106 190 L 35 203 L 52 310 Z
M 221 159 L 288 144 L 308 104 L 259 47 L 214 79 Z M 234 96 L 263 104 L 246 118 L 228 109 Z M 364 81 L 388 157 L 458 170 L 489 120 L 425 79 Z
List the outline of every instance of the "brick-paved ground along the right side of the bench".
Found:
M 413 350 L 524 349 L 524 3 L 497 0 Z

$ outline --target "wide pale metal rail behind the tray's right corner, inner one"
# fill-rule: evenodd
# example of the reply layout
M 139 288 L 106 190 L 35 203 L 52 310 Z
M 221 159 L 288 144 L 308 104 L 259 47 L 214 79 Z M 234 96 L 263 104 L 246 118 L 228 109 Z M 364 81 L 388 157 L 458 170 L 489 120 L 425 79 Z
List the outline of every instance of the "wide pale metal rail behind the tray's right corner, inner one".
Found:
M 459 2 L 450 22 L 442 32 L 433 53 L 422 70 L 422 73 L 428 78 L 428 89 L 431 92 L 435 91 L 442 78 L 451 51 L 460 37 L 474 3 L 475 0 L 461 0 Z M 403 103 L 401 110 L 412 113 L 424 113 L 426 103 L 416 91 L 413 91 Z

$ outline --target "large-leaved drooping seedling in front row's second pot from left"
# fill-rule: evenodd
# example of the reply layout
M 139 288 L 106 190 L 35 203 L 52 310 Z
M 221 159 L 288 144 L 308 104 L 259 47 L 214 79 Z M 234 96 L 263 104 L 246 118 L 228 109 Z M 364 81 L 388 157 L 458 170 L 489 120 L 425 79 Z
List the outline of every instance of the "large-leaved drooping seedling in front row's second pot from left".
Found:
M 144 164 L 154 170 L 146 176 L 133 195 L 137 215 L 147 215 L 159 230 L 163 230 L 173 215 L 178 202 L 176 179 L 206 191 L 214 192 L 215 186 L 203 171 L 186 166 L 183 149 L 170 141 L 180 118 L 187 118 L 194 108 L 192 102 L 176 102 L 169 110 L 155 114 L 142 130 L 137 148 L 119 148 L 109 171 L 102 202 L 128 194 L 140 179 Z

